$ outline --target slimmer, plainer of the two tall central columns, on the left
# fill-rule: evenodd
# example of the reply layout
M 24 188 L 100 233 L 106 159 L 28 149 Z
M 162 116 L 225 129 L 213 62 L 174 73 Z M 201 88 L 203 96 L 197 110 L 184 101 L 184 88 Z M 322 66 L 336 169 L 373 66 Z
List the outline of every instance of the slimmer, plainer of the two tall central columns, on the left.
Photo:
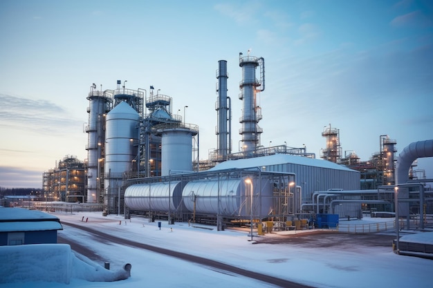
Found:
M 216 137 L 218 148 L 216 148 L 217 159 L 219 161 L 227 160 L 227 155 L 231 153 L 230 148 L 230 106 L 227 104 L 227 61 L 218 61 L 218 70 L 216 71 L 216 79 L 218 79 L 218 102 L 216 103 L 216 111 L 218 117 L 218 126 L 216 127 Z

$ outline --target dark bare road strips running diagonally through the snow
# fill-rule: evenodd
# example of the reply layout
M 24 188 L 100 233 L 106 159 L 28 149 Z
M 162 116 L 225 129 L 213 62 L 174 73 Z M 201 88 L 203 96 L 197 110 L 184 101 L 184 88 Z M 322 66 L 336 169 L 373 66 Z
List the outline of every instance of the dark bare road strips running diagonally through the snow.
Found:
M 279 287 L 287 287 L 287 288 L 313 288 L 311 286 L 306 286 L 306 285 L 302 285 L 296 282 L 292 282 L 292 281 L 288 281 L 288 280 L 284 280 L 281 278 L 276 278 L 273 276 L 268 276 L 265 274 L 261 274 L 261 273 L 257 273 L 254 271 L 248 271 L 245 269 L 241 269 L 232 265 L 228 265 L 228 264 L 224 264 L 222 262 L 218 262 L 215 260 L 210 260 L 208 258 L 202 258 L 199 256 L 193 256 L 187 253 L 181 253 L 181 252 L 177 252 L 177 251 L 172 251 L 169 249 L 163 249 L 160 247 L 154 247 L 148 244 L 143 244 L 143 243 L 139 243 L 139 242 L 134 242 L 131 240 L 127 240 L 127 239 L 123 239 L 123 238 L 118 238 L 115 236 L 111 236 L 107 233 L 103 233 L 101 231 L 95 230 L 95 229 L 91 229 L 89 227 L 82 227 L 80 225 L 77 224 L 73 224 L 70 222 L 63 222 L 62 221 L 62 225 L 67 225 L 67 226 L 71 226 L 74 227 L 76 229 L 81 229 L 83 231 L 86 231 L 87 233 L 92 234 L 95 237 L 95 240 L 100 240 L 100 241 L 104 241 L 104 242 L 113 242 L 116 244 L 122 244 L 122 245 L 126 245 L 129 247 L 134 247 L 134 248 L 138 248 L 138 249 L 145 249 L 145 250 L 149 250 L 149 251 L 153 251 L 156 253 L 161 253 L 164 254 L 166 256 L 172 256 L 172 257 L 176 257 L 182 260 L 186 260 L 186 261 L 190 261 L 190 262 L 195 262 L 199 265 L 203 265 L 203 266 L 207 266 L 207 267 L 211 267 L 214 269 L 218 269 L 219 271 L 228 271 L 230 273 L 237 273 L 241 276 L 245 276 L 248 278 L 253 278 L 256 280 L 260 280 L 263 282 L 266 282 L 268 284 L 271 285 L 276 285 Z M 65 244 L 70 244 L 71 245 L 71 249 L 73 249 L 75 252 L 80 253 L 84 256 L 86 256 L 87 258 L 91 259 L 91 260 L 99 260 L 101 261 L 102 258 L 100 256 L 98 256 L 97 254 L 95 254 L 93 251 L 91 251 L 90 249 L 87 249 L 86 247 L 84 247 L 82 244 L 74 242 L 70 239 L 67 238 L 63 238 L 62 236 L 58 236 L 57 238 L 57 242 L 59 243 L 65 243 Z

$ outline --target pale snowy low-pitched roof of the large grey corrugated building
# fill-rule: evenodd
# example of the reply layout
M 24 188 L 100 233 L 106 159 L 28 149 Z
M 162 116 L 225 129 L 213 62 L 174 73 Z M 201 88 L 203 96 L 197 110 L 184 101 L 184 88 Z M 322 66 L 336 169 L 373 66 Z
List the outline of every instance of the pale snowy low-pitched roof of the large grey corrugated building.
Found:
M 313 159 L 313 158 L 289 155 L 289 154 L 275 154 L 275 155 L 254 157 L 248 159 L 228 160 L 214 166 L 214 168 L 210 169 L 210 171 L 234 169 L 234 168 L 246 169 L 246 168 L 262 167 L 262 166 L 271 166 L 277 164 L 297 164 L 297 165 L 315 166 L 315 167 L 320 167 L 325 169 L 351 171 L 351 172 L 358 173 L 358 171 L 349 169 L 346 166 L 335 164 L 333 162 L 329 162 L 326 160 Z

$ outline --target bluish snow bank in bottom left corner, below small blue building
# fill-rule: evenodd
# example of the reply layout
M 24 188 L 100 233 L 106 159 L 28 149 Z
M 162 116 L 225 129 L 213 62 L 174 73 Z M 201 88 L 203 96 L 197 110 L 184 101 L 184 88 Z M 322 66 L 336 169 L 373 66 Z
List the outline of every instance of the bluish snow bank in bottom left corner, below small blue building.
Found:
M 131 265 L 111 271 L 84 256 L 75 256 L 68 244 L 28 244 L 0 247 L 0 283 L 59 282 L 71 278 L 111 282 L 131 276 Z

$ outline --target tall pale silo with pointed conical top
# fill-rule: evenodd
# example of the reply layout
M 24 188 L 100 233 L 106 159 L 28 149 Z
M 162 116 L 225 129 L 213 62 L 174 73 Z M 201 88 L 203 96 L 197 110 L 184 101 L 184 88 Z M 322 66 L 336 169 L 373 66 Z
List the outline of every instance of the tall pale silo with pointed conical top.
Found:
M 120 209 L 118 189 L 138 154 L 139 122 L 140 115 L 127 102 L 120 102 L 107 114 L 104 205 L 108 213 Z

